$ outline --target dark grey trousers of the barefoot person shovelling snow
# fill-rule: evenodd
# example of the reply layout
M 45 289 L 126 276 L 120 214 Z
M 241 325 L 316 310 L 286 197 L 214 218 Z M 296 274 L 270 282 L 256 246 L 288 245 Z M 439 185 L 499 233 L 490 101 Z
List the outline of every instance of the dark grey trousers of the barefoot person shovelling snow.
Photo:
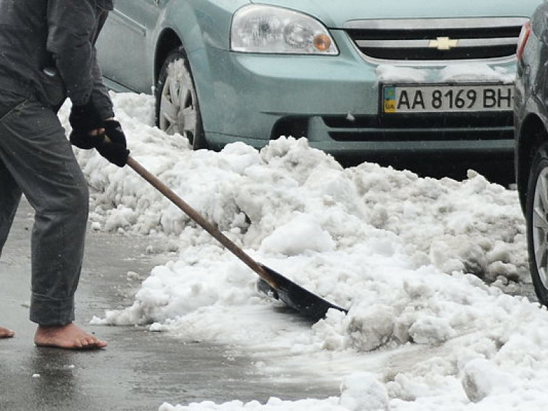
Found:
M 21 193 L 36 211 L 30 319 L 40 325 L 71 323 L 88 219 L 86 180 L 54 109 L 1 92 L 0 255 Z

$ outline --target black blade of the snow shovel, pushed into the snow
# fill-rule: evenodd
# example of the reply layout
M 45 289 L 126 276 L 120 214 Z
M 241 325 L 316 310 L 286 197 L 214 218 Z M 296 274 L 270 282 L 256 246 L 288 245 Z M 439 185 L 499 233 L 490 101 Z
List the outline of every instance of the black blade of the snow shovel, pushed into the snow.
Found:
M 313 320 L 314 322 L 325 318 L 325 314 L 328 313 L 330 308 L 348 313 L 345 308 L 340 308 L 338 305 L 334 305 L 327 300 L 324 300 L 319 295 L 315 295 L 293 281 L 285 278 L 280 273 L 276 273 L 272 268 L 268 268 L 261 264 L 261 267 L 268 273 L 271 283 L 275 283 L 276 287 L 273 288 L 262 278 L 258 281 L 258 289 L 260 292 L 266 295 L 271 295 L 273 298 L 282 301 L 290 308 L 297 310 L 300 314 L 306 318 Z

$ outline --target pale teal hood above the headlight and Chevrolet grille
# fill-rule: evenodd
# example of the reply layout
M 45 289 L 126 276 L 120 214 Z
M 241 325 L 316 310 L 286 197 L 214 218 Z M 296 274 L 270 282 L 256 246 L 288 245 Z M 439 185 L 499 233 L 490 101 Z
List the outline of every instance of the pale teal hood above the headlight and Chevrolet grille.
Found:
M 315 16 L 331 29 L 345 22 L 363 19 L 418 19 L 445 17 L 498 17 L 532 15 L 542 0 L 269 0 L 251 1 L 303 11 Z

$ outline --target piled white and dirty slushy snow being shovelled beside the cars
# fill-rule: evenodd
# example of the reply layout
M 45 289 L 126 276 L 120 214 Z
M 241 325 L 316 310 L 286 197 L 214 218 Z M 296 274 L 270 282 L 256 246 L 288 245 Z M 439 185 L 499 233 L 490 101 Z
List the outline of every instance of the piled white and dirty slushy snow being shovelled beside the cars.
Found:
M 529 280 L 517 193 L 472 171 L 457 182 L 370 163 L 343 169 L 304 139 L 193 152 L 152 126 L 151 97 L 113 98 L 137 161 L 253 258 L 350 308 L 312 326 L 289 315 L 130 168 L 76 149 L 98 191 L 92 227 L 156 235 L 173 252 L 131 307 L 93 323 L 233 345 L 273 385 L 290 370 L 341 387 L 340 397 L 161 411 L 544 409 L 547 311 L 504 292 Z M 67 107 L 60 116 L 68 126 Z

